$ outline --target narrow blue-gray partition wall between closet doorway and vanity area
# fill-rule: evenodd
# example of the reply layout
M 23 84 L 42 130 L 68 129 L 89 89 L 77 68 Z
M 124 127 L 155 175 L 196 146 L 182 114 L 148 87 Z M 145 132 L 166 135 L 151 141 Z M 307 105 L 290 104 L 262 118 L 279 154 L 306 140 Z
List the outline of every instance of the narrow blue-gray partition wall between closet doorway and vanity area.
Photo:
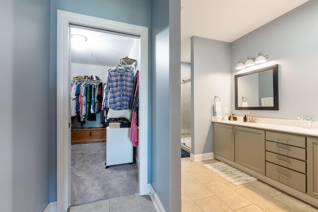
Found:
M 181 211 L 180 0 L 152 0 L 151 183 L 167 212 Z

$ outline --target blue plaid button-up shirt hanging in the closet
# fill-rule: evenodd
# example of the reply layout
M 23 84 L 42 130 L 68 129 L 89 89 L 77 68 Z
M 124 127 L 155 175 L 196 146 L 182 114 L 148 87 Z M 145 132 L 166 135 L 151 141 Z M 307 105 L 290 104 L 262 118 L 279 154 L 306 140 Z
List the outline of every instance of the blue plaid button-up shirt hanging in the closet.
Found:
M 133 94 L 134 72 L 127 68 L 116 68 L 108 72 L 105 107 L 113 110 L 129 109 L 129 101 Z

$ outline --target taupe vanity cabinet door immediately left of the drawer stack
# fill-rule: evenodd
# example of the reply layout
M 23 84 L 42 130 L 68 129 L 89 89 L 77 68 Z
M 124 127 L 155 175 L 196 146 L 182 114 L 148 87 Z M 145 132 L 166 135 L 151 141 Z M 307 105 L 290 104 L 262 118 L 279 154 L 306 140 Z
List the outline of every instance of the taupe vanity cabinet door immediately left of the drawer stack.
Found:
M 235 127 L 235 162 L 265 175 L 265 131 Z

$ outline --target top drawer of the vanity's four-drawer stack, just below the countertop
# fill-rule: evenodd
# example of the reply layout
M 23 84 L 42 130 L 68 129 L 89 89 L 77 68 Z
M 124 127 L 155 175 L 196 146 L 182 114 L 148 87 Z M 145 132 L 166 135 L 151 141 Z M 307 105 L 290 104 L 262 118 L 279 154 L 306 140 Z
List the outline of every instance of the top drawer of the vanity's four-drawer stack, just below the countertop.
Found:
M 265 139 L 267 141 L 275 141 L 279 143 L 306 148 L 306 138 L 303 136 L 295 136 L 285 133 L 266 131 Z

